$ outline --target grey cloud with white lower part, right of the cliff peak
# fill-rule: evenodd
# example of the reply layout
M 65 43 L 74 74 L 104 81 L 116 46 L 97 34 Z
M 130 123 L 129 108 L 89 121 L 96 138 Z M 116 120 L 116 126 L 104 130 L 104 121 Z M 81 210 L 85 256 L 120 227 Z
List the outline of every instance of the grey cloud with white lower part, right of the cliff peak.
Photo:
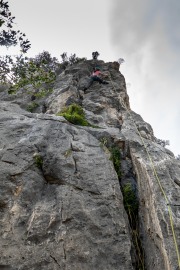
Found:
M 173 5 L 174 4 L 174 5 Z M 131 107 L 149 122 L 160 139 L 180 153 L 179 1 L 117 1 L 112 4 L 112 46 L 121 53 Z M 175 23 L 175 24 L 174 24 Z

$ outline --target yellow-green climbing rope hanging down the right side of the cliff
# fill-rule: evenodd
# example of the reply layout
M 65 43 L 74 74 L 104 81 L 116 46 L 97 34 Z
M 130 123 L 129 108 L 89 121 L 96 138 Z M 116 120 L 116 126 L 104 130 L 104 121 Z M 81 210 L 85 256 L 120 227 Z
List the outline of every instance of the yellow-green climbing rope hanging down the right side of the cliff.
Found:
M 111 84 L 112 84 L 113 89 L 116 91 L 116 88 L 115 88 L 115 86 L 113 84 L 113 81 L 112 81 L 110 72 L 109 72 L 109 78 L 110 78 L 110 81 L 111 81 Z M 167 197 L 167 195 L 165 193 L 165 190 L 164 190 L 164 188 L 163 188 L 163 186 L 161 184 L 161 181 L 159 179 L 159 176 L 158 176 L 157 171 L 156 171 L 156 168 L 155 168 L 154 161 L 151 158 L 151 155 L 150 155 L 150 153 L 149 153 L 149 151 L 148 151 L 148 149 L 146 147 L 145 141 L 144 141 L 144 139 L 143 139 L 140 131 L 138 130 L 137 124 L 136 124 L 136 122 L 135 122 L 135 120 L 134 120 L 134 118 L 133 118 L 133 116 L 131 114 L 131 111 L 127 108 L 127 106 L 126 106 L 126 104 L 125 104 L 125 102 L 124 102 L 124 100 L 123 100 L 122 97 L 120 97 L 120 103 L 121 103 L 122 107 L 128 112 L 128 114 L 129 114 L 129 116 L 130 116 L 130 118 L 131 118 L 131 120 L 132 120 L 132 122 L 133 122 L 133 124 L 134 124 L 134 126 L 135 126 L 135 128 L 136 128 L 136 130 L 137 130 L 137 132 L 139 134 L 139 136 L 140 136 L 140 139 L 142 141 L 142 144 L 143 144 L 143 146 L 144 146 L 144 148 L 146 150 L 147 156 L 149 158 L 150 166 L 151 166 L 151 169 L 153 171 L 153 174 L 154 174 L 154 176 L 155 176 L 155 178 L 156 178 L 156 180 L 158 182 L 158 185 L 160 187 L 160 190 L 161 190 L 161 192 L 162 192 L 162 194 L 163 194 L 163 196 L 165 198 L 165 201 L 166 201 L 166 204 L 167 204 L 167 207 L 168 207 L 168 214 L 169 214 L 171 231 L 172 231 L 172 235 L 173 235 L 173 241 L 174 241 L 175 250 L 176 250 L 176 254 L 177 254 L 178 266 L 179 266 L 179 269 L 180 269 L 180 253 L 179 253 L 179 249 L 178 249 L 176 234 L 175 234 L 175 231 L 174 231 L 174 222 L 173 222 L 172 209 L 170 207 L 170 203 L 169 203 L 168 197 Z

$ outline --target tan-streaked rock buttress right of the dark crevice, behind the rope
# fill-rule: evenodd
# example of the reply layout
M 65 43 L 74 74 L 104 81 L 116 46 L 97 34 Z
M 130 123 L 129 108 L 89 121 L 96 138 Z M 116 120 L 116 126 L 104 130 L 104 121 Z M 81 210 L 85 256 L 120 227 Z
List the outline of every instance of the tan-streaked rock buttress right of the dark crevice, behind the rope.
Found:
M 137 115 L 132 114 L 136 119 Z M 134 124 L 128 119 L 129 115 L 125 113 L 126 125 L 122 127 L 122 133 L 128 139 L 137 178 L 140 234 L 146 267 L 158 270 L 179 269 L 175 241 L 179 248 L 180 162 L 172 152 L 153 142 L 152 129 L 148 131 L 147 126 L 146 136 L 140 137 L 136 129 L 133 131 Z M 136 124 L 138 127 L 138 119 Z M 170 222 L 171 214 L 174 228 Z

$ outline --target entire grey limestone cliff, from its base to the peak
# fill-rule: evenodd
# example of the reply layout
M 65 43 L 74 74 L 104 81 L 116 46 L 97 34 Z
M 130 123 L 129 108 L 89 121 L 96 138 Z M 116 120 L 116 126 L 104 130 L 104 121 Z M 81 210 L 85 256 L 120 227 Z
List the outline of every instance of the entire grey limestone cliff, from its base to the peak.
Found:
M 84 94 L 97 64 L 109 84 L 94 82 Z M 130 110 L 118 63 L 67 67 L 34 113 L 25 110 L 31 99 L 23 91 L 9 96 L 2 89 L 0 98 L 0 266 L 131 270 L 140 269 L 139 256 L 141 269 L 178 269 L 168 207 L 179 245 L 180 162 Z M 73 103 L 92 126 L 56 116 Z M 119 179 L 112 146 L 121 152 Z M 121 192 L 127 183 L 138 199 L 138 247 Z

